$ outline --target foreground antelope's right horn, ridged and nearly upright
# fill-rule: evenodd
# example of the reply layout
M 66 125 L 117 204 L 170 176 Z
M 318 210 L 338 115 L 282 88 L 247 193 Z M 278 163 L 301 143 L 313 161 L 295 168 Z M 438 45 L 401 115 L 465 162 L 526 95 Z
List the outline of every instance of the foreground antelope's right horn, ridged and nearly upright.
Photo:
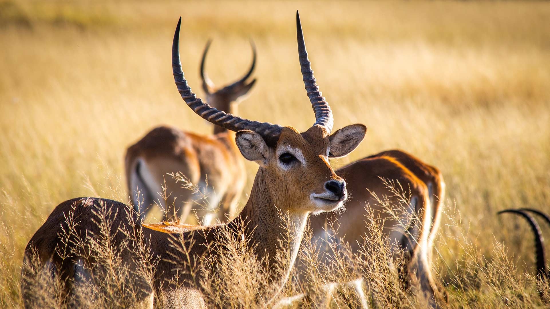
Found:
M 306 43 L 304 42 L 304 34 L 302 32 L 300 14 L 298 14 L 298 11 L 296 11 L 296 33 L 298 35 L 298 56 L 300 59 L 302 77 L 304 79 L 307 96 L 310 98 L 311 106 L 315 112 L 315 124 L 324 126 L 327 128 L 328 133 L 331 133 L 334 123 L 331 107 L 329 107 L 327 101 L 324 100 L 315 81 L 315 77 L 313 76 L 311 63 L 307 58 Z

